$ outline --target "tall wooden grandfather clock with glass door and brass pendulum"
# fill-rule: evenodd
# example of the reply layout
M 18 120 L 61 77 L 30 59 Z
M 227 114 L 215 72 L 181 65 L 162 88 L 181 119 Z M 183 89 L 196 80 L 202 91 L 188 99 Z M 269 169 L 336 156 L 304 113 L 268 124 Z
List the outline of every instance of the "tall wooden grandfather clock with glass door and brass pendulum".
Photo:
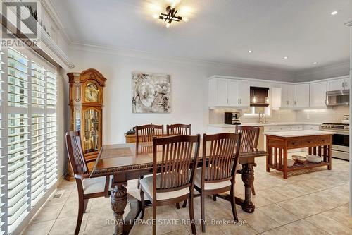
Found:
M 102 144 L 103 87 L 106 78 L 94 68 L 68 73 L 70 83 L 70 131 L 80 131 L 88 167 L 94 166 Z M 67 180 L 73 181 L 68 164 Z

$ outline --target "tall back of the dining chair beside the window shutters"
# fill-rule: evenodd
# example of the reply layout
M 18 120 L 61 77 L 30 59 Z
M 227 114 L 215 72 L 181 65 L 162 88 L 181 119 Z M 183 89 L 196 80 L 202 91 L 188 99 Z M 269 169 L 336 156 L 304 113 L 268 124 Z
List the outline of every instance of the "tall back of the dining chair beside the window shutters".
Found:
M 88 173 L 87 162 L 84 159 L 80 131 L 68 131 L 66 133 L 66 146 L 68 158 L 74 174 Z

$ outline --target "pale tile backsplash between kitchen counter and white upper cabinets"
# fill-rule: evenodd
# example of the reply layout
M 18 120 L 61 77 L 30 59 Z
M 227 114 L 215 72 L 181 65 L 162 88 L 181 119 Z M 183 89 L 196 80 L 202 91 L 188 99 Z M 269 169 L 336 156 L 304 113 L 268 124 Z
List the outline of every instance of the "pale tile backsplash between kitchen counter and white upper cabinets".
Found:
M 235 112 L 234 109 L 209 110 L 209 123 L 224 123 L 225 112 Z M 272 110 L 268 122 L 341 122 L 342 116 L 348 114 L 348 107 L 334 107 L 333 109 L 303 109 L 303 110 Z M 258 116 L 241 116 L 242 123 L 257 123 Z

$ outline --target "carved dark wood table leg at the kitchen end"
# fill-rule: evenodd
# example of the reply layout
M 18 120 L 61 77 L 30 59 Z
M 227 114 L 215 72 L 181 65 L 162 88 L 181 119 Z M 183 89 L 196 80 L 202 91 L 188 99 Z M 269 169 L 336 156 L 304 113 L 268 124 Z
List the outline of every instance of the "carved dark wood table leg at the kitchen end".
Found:
M 242 165 L 242 181 L 244 182 L 244 202 L 242 203 L 242 210 L 253 213 L 255 206 L 252 203 L 251 186 L 254 182 L 253 164 Z

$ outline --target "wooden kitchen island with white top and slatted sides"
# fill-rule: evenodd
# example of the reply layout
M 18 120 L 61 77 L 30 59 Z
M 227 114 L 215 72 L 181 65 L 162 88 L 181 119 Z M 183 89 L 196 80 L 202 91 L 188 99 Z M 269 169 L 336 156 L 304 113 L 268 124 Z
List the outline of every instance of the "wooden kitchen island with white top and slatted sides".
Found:
M 287 179 L 287 173 L 290 171 L 322 166 L 327 166 L 328 170 L 332 169 L 332 135 L 334 135 L 334 132 L 302 130 L 264 132 L 263 134 L 266 136 L 266 149 L 268 152 L 266 160 L 267 172 L 270 171 L 270 168 L 282 171 L 284 179 Z M 303 147 L 308 147 L 309 155 L 322 157 L 322 162 L 295 163 L 292 167 L 288 167 L 287 151 Z

